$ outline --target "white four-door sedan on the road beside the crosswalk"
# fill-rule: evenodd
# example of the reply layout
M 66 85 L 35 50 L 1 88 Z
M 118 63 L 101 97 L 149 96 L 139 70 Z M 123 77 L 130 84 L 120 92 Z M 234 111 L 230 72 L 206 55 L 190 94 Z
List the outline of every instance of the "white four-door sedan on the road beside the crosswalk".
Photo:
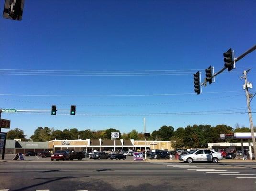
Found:
M 222 160 L 223 156 L 220 152 L 215 152 L 209 149 L 200 149 L 190 152 L 186 155 L 179 156 L 180 161 L 192 163 L 193 161 L 208 161 L 217 163 Z

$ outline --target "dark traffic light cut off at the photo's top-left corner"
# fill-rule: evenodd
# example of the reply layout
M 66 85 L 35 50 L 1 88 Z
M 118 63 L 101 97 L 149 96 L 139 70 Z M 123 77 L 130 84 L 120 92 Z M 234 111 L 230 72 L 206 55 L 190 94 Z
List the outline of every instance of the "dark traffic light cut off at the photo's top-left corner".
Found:
M 3 17 L 6 19 L 22 20 L 25 0 L 5 0 Z

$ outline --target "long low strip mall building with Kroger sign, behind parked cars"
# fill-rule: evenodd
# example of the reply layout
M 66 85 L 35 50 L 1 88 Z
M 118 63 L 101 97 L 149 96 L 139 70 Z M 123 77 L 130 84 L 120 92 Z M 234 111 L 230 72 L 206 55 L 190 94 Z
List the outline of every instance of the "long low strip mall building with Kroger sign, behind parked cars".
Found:
M 51 140 L 47 142 L 24 142 L 18 140 L 6 140 L 6 154 L 15 154 L 17 152 L 26 153 L 28 151 L 41 152 L 64 149 L 74 149 L 75 151 L 144 151 L 144 140 L 103 140 L 103 139 L 78 139 L 78 140 Z M 170 141 L 146 141 L 146 149 L 173 150 Z

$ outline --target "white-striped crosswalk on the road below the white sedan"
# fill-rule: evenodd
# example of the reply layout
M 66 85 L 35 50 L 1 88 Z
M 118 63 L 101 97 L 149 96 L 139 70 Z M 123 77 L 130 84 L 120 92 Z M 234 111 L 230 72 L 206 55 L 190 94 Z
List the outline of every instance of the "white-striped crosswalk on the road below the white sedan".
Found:
M 166 165 L 168 167 L 179 168 L 182 170 L 195 170 L 201 173 L 207 174 L 218 174 L 220 176 L 234 176 L 237 179 L 256 179 L 256 174 L 242 174 L 240 172 L 229 171 L 229 170 L 216 170 L 214 168 L 198 167 L 195 165 L 188 164 L 170 164 L 166 162 L 151 162 L 152 164 Z M 255 181 L 256 183 L 256 181 Z

